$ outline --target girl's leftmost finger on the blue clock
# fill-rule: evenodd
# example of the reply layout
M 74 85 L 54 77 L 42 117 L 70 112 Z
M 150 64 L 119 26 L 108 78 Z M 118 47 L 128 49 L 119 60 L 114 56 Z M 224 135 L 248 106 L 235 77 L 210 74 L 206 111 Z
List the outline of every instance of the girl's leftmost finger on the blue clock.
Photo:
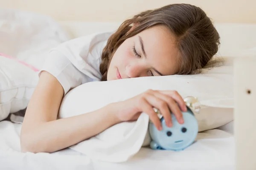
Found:
M 154 111 L 152 105 L 147 101 L 147 99 L 141 98 L 140 107 L 144 113 L 148 114 L 149 119 L 153 122 L 155 127 L 157 127 L 158 130 L 162 130 L 162 125 L 157 113 Z

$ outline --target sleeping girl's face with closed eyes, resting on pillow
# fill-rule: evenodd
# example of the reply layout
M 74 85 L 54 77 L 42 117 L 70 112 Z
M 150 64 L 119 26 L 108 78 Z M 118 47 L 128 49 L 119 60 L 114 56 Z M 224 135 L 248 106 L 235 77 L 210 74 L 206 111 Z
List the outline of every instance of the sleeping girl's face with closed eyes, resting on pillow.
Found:
M 113 55 L 107 80 L 176 74 L 180 67 L 175 37 L 154 26 L 125 40 Z

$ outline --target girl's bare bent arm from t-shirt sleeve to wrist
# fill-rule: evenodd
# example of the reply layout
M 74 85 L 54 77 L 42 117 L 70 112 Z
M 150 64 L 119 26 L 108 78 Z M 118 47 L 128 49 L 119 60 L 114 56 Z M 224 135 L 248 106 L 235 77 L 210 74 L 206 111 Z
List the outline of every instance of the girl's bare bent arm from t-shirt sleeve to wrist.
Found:
M 55 152 L 119 122 L 109 105 L 90 113 L 56 120 L 63 95 L 64 90 L 58 80 L 43 71 L 23 120 L 20 133 L 22 152 Z

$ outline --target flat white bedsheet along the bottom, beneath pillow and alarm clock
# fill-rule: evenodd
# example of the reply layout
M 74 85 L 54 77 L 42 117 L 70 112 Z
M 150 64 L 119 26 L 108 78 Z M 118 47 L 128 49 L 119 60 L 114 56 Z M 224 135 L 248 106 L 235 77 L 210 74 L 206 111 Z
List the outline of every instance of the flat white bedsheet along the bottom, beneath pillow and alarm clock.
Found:
M 224 130 L 199 133 L 197 142 L 174 152 L 142 148 L 125 163 L 90 159 L 69 148 L 55 153 L 20 153 L 20 124 L 0 122 L 0 170 L 233 170 L 234 137 Z

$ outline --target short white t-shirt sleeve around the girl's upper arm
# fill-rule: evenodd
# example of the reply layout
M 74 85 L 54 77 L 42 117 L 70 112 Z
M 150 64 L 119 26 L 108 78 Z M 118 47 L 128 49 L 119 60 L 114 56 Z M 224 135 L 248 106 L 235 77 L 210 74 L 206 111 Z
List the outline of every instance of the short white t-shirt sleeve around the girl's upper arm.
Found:
M 64 54 L 57 50 L 49 52 L 43 68 L 38 74 L 39 76 L 42 71 L 47 71 L 58 79 L 64 89 L 64 95 L 70 89 L 84 82 L 93 81 L 90 77 L 79 71 Z

